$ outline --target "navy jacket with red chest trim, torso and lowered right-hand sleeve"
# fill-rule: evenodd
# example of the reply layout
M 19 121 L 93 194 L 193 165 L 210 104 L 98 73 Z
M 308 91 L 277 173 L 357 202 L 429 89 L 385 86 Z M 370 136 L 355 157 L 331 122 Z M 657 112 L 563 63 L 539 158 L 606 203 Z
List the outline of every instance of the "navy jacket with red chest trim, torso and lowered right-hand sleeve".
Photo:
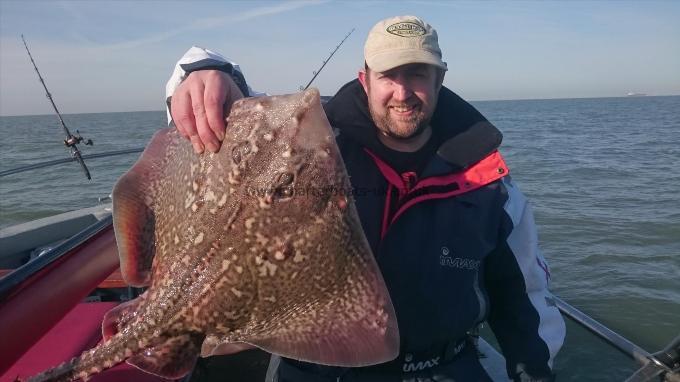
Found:
M 373 152 L 381 143 L 357 80 L 325 110 L 395 305 L 401 352 L 427 352 L 487 320 L 509 375 L 550 375 L 564 322 L 550 304 L 533 214 L 497 152 L 500 132 L 442 88 L 431 121 L 439 149 L 417 179 Z

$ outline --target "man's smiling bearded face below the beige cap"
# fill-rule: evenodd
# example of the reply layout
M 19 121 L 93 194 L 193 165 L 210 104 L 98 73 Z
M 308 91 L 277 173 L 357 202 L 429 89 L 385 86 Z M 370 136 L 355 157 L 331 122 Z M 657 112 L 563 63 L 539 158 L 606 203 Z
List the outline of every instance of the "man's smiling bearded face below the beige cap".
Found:
M 373 122 L 394 138 L 409 138 L 427 127 L 443 80 L 444 73 L 427 64 L 359 72 Z

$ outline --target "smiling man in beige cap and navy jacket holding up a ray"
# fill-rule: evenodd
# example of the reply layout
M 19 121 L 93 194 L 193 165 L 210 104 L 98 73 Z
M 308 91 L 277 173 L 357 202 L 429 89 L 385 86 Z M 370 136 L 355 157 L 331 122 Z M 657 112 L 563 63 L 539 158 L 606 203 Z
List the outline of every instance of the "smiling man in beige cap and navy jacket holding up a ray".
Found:
M 442 86 L 447 66 L 423 20 L 379 22 L 364 56 L 325 111 L 396 309 L 400 355 L 352 369 L 282 359 L 278 381 L 487 381 L 468 340 L 485 320 L 511 378 L 552 380 L 564 322 L 532 212 L 498 153 L 500 132 Z M 219 149 L 223 105 L 253 95 L 237 66 L 198 48 L 167 90 L 197 152 Z

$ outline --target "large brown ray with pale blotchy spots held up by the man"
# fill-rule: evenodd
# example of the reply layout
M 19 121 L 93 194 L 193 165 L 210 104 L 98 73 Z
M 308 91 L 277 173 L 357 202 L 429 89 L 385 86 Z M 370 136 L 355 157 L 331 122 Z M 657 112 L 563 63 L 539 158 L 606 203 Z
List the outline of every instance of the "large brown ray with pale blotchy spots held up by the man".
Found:
M 217 153 L 158 132 L 113 193 L 123 276 L 148 286 L 107 313 L 105 341 L 31 381 L 127 360 L 179 378 L 252 344 L 337 366 L 398 354 L 396 318 L 315 89 L 237 101 Z

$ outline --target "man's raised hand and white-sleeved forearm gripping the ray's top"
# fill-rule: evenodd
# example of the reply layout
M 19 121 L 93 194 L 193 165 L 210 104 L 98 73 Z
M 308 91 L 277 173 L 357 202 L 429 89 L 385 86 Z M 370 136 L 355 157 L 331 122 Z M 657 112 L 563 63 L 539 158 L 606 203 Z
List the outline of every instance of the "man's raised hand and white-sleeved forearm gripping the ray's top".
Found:
M 219 150 L 225 116 L 234 101 L 260 95 L 248 87 L 238 64 L 208 49 L 192 47 L 175 65 L 165 87 L 168 123 L 191 140 L 194 151 Z

